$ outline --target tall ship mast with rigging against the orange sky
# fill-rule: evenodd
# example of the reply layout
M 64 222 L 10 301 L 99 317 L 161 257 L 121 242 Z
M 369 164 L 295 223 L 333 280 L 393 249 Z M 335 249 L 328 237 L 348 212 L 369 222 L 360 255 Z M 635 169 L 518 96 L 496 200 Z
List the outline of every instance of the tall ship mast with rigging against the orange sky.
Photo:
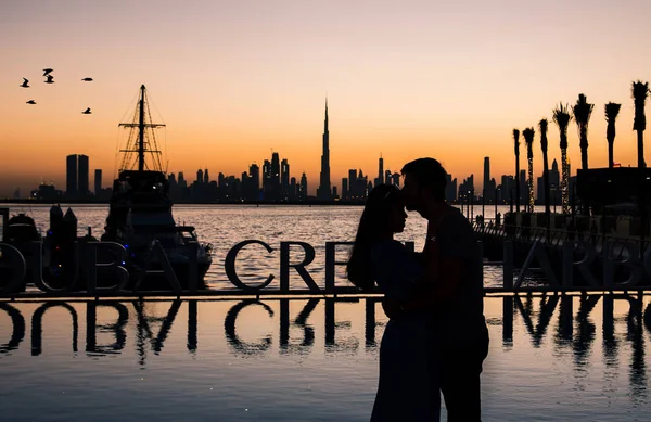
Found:
M 123 164 L 122 164 L 122 168 L 120 171 L 124 170 L 128 170 L 130 169 L 129 167 L 131 167 L 130 164 L 130 153 L 138 153 L 138 171 L 144 171 L 145 167 L 146 167 L 146 163 L 145 163 L 145 153 L 151 153 L 152 154 L 152 170 L 154 171 L 163 171 L 163 166 L 161 164 L 161 151 L 158 151 L 157 145 L 156 145 L 156 137 L 154 135 L 154 131 L 152 130 L 151 133 L 151 141 L 148 141 L 146 139 L 150 138 L 148 137 L 148 128 L 151 129 L 155 129 L 158 127 L 165 127 L 164 124 L 154 124 L 154 123 L 146 123 L 148 118 L 149 122 L 151 122 L 151 114 L 149 112 L 149 106 L 146 104 L 146 90 L 144 88 L 144 85 L 140 86 L 140 99 L 138 101 L 138 106 L 136 107 L 136 114 L 138 115 L 138 117 L 136 118 L 136 116 L 133 116 L 133 122 L 132 123 L 120 123 L 118 126 L 119 127 L 125 127 L 125 128 L 130 128 L 130 133 L 129 133 L 129 140 L 127 141 L 127 149 L 126 150 L 120 150 L 120 152 L 125 153 L 125 156 L 123 158 Z M 138 138 L 137 140 L 135 139 L 135 131 L 136 129 L 138 129 Z M 138 142 L 136 144 L 136 142 Z M 151 148 L 150 146 L 151 143 Z M 135 167 L 135 166 L 133 166 Z

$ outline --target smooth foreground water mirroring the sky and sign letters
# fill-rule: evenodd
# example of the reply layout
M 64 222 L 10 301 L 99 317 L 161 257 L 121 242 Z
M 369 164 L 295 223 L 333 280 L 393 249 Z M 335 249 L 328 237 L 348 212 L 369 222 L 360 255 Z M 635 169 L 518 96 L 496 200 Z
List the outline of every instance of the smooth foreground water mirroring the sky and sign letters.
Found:
M 651 297 L 485 304 L 485 420 L 648 417 Z M 363 421 L 385 322 L 371 299 L 1 303 L 0 401 L 25 421 Z

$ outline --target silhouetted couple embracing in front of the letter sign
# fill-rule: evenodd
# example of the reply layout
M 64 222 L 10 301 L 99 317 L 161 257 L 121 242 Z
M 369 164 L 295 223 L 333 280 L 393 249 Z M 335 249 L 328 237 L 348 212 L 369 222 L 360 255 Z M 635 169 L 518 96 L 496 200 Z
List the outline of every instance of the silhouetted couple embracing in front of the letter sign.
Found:
M 347 267 L 358 287 L 378 284 L 390 318 L 371 421 L 438 421 L 442 393 L 448 421 L 480 421 L 488 353 L 481 252 L 469 221 L 445 202 L 443 166 L 419 158 L 401 172 L 401 190 L 380 184 L 369 194 Z M 393 239 L 405 207 L 427 220 L 422 253 Z

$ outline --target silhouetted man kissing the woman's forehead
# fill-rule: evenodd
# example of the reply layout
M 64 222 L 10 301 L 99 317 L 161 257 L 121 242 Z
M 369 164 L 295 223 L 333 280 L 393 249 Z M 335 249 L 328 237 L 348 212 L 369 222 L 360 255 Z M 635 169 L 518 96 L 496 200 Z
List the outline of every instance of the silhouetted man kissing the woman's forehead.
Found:
M 427 220 L 422 256 L 436 256 L 438 274 L 418 297 L 383 305 L 394 318 L 429 309 L 432 394 L 441 388 L 448 422 L 481 421 L 480 374 L 488 354 L 481 252 L 470 222 L 445 202 L 446 171 L 441 163 L 419 158 L 406 164 L 401 174 L 407 209 Z

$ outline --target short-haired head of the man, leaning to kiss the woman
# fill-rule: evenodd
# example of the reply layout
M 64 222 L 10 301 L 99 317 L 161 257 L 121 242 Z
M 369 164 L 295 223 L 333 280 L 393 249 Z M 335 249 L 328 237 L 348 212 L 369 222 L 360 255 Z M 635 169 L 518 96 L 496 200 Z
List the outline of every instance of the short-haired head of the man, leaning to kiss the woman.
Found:
M 447 174 L 434 158 L 418 158 L 405 164 L 403 194 L 407 209 L 422 212 L 427 204 L 445 201 Z

